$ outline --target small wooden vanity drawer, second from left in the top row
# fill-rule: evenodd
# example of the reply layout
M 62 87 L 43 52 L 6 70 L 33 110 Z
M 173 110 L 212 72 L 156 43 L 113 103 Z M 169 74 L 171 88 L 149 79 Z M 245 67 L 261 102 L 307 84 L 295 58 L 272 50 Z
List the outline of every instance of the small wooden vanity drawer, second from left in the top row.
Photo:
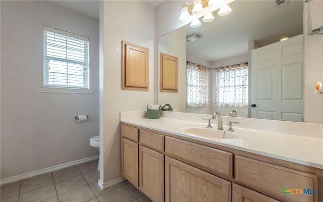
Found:
M 140 130 L 139 142 L 142 145 L 150 147 L 158 151 L 164 151 L 164 135 Z

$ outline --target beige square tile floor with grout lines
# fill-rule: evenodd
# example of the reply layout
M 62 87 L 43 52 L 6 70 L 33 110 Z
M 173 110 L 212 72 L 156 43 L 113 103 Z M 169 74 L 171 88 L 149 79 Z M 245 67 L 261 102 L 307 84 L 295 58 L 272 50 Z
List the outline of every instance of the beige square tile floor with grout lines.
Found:
M 128 181 L 101 190 L 97 161 L 1 186 L 1 202 L 148 202 Z

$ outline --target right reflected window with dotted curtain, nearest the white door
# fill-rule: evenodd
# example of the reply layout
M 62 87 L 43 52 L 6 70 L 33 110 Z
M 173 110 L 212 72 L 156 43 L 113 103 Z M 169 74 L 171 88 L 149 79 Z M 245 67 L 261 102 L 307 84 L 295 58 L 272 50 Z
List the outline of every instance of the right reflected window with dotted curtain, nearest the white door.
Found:
M 216 68 L 216 106 L 248 107 L 248 63 Z

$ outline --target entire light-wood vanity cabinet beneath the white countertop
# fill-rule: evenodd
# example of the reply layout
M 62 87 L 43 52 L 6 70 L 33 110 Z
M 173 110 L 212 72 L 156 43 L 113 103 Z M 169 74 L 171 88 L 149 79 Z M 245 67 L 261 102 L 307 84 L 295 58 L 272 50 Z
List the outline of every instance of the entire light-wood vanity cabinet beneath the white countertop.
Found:
M 122 125 L 122 175 L 153 201 L 322 201 L 321 169 L 139 128 Z

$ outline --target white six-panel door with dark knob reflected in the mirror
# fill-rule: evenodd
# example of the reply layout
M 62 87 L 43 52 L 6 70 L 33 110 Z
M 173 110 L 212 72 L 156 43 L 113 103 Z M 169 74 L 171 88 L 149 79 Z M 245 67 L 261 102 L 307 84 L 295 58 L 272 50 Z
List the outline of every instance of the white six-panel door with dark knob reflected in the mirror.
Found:
M 303 34 L 251 52 L 251 117 L 303 121 Z

